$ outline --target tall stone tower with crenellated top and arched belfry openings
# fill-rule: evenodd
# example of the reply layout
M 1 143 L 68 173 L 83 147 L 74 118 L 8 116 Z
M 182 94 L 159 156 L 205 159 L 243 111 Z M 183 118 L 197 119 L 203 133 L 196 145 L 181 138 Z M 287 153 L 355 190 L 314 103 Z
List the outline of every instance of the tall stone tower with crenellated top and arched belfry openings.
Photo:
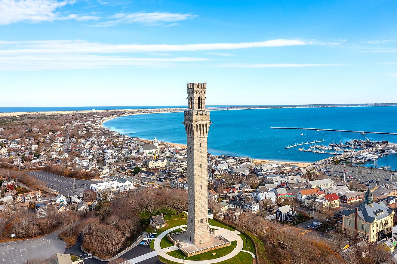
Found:
M 207 196 L 207 137 L 210 112 L 205 109 L 206 83 L 188 83 L 187 135 L 187 239 L 195 245 L 210 239 Z

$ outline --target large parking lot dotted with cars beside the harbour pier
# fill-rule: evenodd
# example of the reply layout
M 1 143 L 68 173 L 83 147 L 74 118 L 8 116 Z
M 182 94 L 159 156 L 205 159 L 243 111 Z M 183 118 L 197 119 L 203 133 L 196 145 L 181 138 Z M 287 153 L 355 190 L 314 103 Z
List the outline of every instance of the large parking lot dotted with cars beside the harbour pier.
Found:
M 349 165 L 335 165 L 328 164 L 324 168 L 327 172 L 323 172 L 320 169 L 319 172 L 324 173 L 325 177 L 333 179 L 335 182 L 342 182 L 349 184 L 349 182 L 362 183 L 368 186 L 382 186 L 383 184 L 388 184 L 389 189 L 397 186 L 397 175 L 394 175 L 394 171 L 389 170 L 379 170 L 359 166 L 349 166 Z M 331 172 L 328 172 L 331 171 Z M 331 174 L 331 175 L 328 175 Z M 336 174 L 336 175 L 335 175 Z M 347 178 L 346 178 L 347 177 Z M 353 178 L 349 178 L 353 177 Z M 357 179 L 356 179 L 357 178 Z M 390 179 L 390 180 L 386 180 Z M 373 180 L 373 182 L 372 182 Z M 377 182 L 379 180 L 379 182 Z

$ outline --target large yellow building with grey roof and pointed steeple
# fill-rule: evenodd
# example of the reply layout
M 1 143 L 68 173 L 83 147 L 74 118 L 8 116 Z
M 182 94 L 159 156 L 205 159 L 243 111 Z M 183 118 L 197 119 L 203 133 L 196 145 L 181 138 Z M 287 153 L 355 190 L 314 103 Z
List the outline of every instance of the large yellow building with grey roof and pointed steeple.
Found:
M 370 188 L 365 193 L 364 205 L 343 210 L 342 227 L 358 238 L 374 243 L 383 239 L 393 228 L 393 209 L 384 203 L 374 203 Z

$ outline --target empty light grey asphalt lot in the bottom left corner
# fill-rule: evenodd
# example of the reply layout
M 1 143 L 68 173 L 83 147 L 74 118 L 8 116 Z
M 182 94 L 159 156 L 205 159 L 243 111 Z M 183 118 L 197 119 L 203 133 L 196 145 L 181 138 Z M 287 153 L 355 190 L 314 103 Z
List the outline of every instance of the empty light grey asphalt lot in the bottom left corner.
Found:
M 33 258 L 49 258 L 63 253 L 65 246 L 57 231 L 36 239 L 3 242 L 0 243 L 0 263 L 20 264 Z

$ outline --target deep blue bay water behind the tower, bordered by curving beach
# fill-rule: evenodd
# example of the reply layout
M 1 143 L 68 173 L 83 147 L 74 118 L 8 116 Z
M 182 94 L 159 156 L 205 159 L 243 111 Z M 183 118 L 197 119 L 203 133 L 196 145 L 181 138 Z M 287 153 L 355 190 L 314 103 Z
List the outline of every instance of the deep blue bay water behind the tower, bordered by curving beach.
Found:
M 341 130 L 397 132 L 397 107 L 313 107 L 211 111 L 208 152 L 214 155 L 249 156 L 276 161 L 313 162 L 328 154 L 298 151 L 303 145 L 285 149 L 295 143 L 322 140 L 318 144 L 343 143 L 352 139 L 389 140 L 397 135 L 366 134 L 316 130 L 270 129 L 275 127 L 313 127 Z M 183 113 L 127 115 L 111 119 L 104 126 L 142 139 L 186 144 Z M 303 133 L 303 136 L 301 136 Z M 366 166 L 397 168 L 397 154 L 390 154 Z

